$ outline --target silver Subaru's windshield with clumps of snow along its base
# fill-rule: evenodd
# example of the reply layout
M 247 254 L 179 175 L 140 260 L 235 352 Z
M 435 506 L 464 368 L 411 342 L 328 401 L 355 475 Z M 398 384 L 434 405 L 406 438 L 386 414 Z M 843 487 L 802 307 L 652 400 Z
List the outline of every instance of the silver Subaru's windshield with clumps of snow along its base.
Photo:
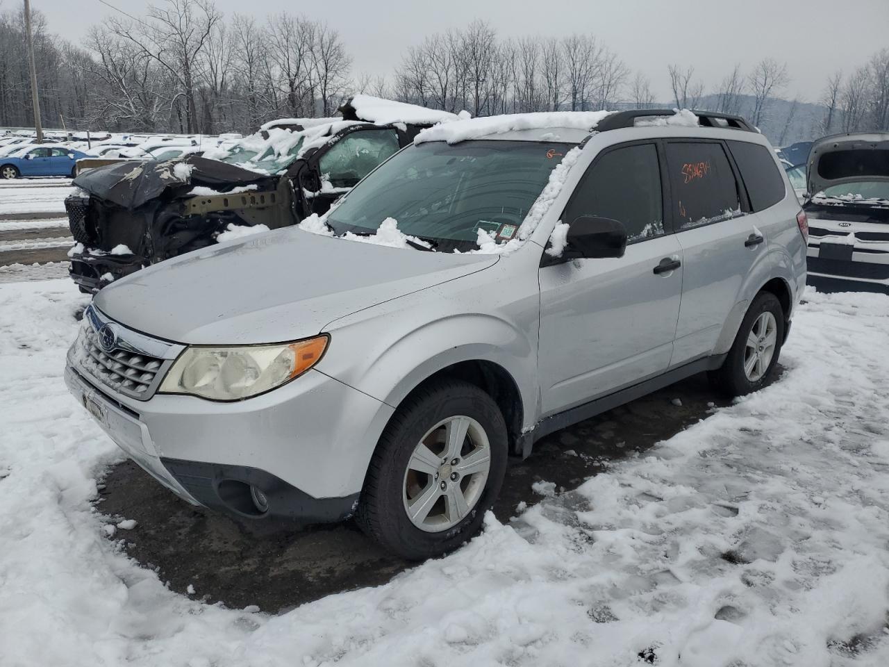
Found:
M 394 218 L 402 233 L 444 252 L 477 248 L 478 229 L 508 240 L 571 148 L 536 141 L 411 146 L 361 181 L 326 221 L 336 234 L 372 234 Z

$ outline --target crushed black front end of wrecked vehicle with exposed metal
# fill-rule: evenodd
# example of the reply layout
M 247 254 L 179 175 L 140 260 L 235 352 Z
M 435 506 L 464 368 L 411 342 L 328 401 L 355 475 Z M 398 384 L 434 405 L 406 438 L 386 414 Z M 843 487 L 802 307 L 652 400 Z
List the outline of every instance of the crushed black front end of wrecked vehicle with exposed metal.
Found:
M 82 292 L 212 245 L 229 225 L 293 223 L 290 181 L 204 157 L 121 163 L 77 176 L 65 200 Z

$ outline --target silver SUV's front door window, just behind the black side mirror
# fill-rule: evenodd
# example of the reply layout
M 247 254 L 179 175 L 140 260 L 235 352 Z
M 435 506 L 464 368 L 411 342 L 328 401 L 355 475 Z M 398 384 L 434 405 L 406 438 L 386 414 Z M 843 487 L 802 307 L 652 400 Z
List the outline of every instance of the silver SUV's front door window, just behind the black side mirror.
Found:
M 581 215 L 621 222 L 628 243 L 661 236 L 661 166 L 654 144 L 627 146 L 597 157 L 574 190 L 562 220 L 570 224 Z

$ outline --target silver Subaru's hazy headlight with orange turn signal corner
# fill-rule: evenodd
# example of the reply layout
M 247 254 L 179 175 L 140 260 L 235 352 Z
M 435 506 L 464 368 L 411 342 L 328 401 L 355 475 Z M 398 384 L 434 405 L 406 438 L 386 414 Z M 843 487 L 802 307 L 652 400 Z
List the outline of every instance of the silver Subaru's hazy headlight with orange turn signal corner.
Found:
M 304 341 L 245 347 L 191 347 L 172 365 L 161 393 L 236 401 L 280 387 L 315 366 L 327 335 Z

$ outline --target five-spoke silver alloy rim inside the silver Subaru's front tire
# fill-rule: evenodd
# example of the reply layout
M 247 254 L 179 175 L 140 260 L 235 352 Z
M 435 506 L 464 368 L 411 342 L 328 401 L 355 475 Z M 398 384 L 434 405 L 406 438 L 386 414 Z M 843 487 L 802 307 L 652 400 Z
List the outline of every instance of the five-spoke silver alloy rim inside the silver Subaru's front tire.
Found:
M 466 518 L 485 491 L 491 445 L 471 417 L 448 417 L 429 429 L 404 471 L 404 511 L 427 533 L 452 528 Z

